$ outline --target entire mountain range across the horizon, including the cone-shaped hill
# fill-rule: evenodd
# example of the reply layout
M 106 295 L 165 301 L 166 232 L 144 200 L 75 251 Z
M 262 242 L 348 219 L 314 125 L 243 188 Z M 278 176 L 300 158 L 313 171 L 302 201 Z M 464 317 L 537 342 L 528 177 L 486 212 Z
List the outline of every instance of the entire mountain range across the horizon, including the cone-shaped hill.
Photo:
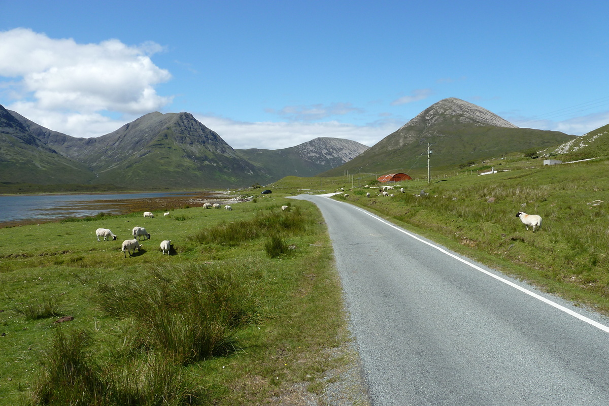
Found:
M 428 146 L 435 167 L 451 167 L 527 149 L 547 152 L 577 139 L 518 128 L 455 98 L 434 103 L 370 148 L 347 139 L 315 138 L 280 150 L 233 149 L 190 113 L 149 113 L 110 134 L 77 138 L 0 105 L 0 183 L 139 190 L 241 187 L 288 175 L 337 176 L 345 170 L 408 173 L 426 167 Z

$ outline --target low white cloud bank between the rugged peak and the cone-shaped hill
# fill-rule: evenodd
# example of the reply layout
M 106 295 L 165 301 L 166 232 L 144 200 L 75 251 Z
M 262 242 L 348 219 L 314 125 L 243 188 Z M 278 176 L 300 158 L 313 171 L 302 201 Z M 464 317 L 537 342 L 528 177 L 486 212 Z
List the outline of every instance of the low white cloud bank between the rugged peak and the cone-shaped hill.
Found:
M 216 131 L 234 149 L 283 149 L 317 137 L 345 138 L 372 145 L 400 128 L 393 121 L 368 125 L 339 122 L 238 122 L 223 117 L 194 114 L 210 130 Z

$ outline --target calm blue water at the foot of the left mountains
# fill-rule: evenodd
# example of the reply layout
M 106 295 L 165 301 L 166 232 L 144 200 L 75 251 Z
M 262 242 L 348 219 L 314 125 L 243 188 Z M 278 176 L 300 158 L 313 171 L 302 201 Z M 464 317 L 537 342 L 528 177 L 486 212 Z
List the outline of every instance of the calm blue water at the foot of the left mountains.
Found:
M 188 195 L 192 192 L 0 196 L 0 222 L 85 217 L 100 211 L 121 214 L 121 200 Z

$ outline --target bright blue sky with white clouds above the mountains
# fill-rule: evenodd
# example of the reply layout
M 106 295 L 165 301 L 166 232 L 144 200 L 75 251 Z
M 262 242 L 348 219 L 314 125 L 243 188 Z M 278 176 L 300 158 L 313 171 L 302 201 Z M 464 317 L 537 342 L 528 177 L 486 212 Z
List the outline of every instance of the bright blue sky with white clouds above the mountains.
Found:
M 457 97 L 609 124 L 607 1 L 0 0 L 0 104 L 71 136 L 187 111 L 232 147 L 373 145 Z

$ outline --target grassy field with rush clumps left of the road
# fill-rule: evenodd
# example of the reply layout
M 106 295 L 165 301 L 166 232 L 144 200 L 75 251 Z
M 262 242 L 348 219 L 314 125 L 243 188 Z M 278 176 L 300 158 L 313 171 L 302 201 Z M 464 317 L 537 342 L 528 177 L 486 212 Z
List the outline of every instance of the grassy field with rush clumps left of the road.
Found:
M 348 341 L 340 282 L 319 211 L 287 203 L 0 229 L 1 403 L 253 405 L 298 385 L 321 396 L 328 371 L 353 362 L 333 352 Z M 209 238 L 232 224 L 258 233 Z M 125 258 L 135 225 L 152 239 Z M 118 239 L 97 242 L 96 228 Z

